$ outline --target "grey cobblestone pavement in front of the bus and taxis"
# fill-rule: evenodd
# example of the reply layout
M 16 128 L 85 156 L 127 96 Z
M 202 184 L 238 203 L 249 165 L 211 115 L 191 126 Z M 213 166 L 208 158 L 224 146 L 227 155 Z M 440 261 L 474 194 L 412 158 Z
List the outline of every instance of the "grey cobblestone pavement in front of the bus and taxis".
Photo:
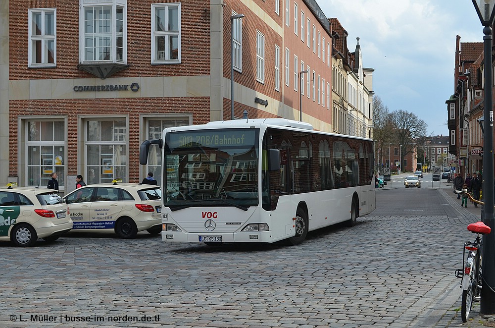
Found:
M 375 211 L 293 247 L 147 233 L 1 243 L 0 327 L 458 327 L 453 272 L 477 219 L 443 190 L 422 194 L 444 215 Z

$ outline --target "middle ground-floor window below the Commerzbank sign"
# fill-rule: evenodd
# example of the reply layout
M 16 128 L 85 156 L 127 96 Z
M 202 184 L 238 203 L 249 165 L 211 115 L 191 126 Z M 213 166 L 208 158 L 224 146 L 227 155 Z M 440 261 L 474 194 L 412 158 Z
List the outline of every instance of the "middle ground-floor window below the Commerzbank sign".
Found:
M 86 126 L 86 183 L 127 182 L 127 125 L 125 118 L 88 119 Z

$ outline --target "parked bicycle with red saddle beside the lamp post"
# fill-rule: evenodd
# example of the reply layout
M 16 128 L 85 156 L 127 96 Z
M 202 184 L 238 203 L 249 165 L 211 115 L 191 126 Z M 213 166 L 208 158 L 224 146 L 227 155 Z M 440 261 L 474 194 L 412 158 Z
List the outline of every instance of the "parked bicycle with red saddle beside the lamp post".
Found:
M 466 193 L 472 201 L 484 204 L 484 202 L 475 200 L 471 195 L 467 193 L 466 189 L 462 189 L 458 193 Z M 461 301 L 461 318 L 462 322 L 467 322 L 469 314 L 471 313 L 471 306 L 473 301 L 479 302 L 481 300 L 481 283 L 482 283 L 482 268 L 481 268 L 481 245 L 482 236 L 490 233 L 492 229 L 485 223 L 478 221 L 476 223 L 468 224 L 467 229 L 472 233 L 476 233 L 476 239 L 474 242 L 465 242 L 462 252 L 462 263 L 464 263 L 463 269 L 457 269 L 455 276 L 462 278 L 462 301 Z M 467 251 L 467 258 L 466 258 Z

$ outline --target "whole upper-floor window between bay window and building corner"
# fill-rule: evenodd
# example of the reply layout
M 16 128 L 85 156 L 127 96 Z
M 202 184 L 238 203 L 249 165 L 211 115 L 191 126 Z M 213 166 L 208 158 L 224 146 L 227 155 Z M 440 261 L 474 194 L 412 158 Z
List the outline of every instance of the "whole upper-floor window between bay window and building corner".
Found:
M 242 29 L 240 21 L 241 19 L 236 19 L 233 22 L 235 27 L 239 24 L 239 31 Z M 151 62 L 156 64 L 179 63 L 181 61 L 181 4 L 152 4 L 151 26 Z M 238 40 L 234 39 L 234 47 L 236 47 L 236 41 L 242 44 L 242 35 L 239 34 L 238 37 Z M 241 60 L 239 57 L 237 59 Z

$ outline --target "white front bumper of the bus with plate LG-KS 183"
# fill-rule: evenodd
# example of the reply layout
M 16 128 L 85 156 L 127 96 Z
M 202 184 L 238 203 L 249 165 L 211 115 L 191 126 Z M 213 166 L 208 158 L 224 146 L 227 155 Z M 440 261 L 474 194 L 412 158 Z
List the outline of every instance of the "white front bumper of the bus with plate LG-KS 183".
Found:
M 271 243 L 271 231 L 242 231 L 237 233 L 185 233 L 180 231 L 162 231 L 164 242 L 222 242 L 222 243 Z M 201 240 L 200 240 L 201 239 Z

